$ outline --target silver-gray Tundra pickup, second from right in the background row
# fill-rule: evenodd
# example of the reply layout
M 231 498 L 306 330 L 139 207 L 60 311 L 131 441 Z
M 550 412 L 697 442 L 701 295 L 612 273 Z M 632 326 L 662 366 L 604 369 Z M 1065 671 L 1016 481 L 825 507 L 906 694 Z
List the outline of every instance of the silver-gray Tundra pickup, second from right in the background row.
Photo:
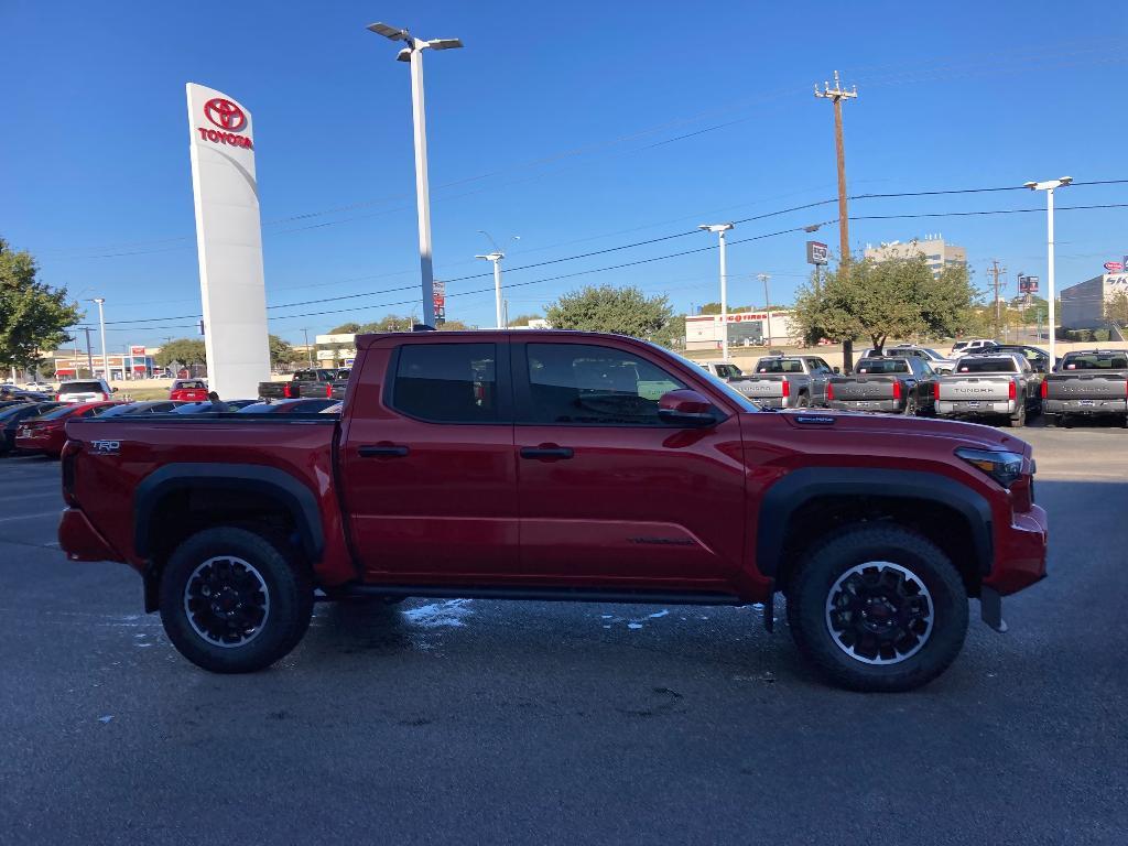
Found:
M 1003 417 L 1022 426 L 1038 412 L 1041 376 L 1017 353 L 963 355 L 950 376 L 935 382 L 940 417 Z

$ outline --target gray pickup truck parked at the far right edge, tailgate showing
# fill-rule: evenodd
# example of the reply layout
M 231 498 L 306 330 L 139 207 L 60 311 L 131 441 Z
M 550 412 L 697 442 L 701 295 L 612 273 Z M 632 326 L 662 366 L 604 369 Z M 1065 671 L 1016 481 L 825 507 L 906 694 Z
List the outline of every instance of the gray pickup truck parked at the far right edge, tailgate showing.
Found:
M 1046 425 L 1068 425 L 1074 416 L 1117 415 L 1128 426 L 1128 352 L 1068 352 L 1042 382 Z

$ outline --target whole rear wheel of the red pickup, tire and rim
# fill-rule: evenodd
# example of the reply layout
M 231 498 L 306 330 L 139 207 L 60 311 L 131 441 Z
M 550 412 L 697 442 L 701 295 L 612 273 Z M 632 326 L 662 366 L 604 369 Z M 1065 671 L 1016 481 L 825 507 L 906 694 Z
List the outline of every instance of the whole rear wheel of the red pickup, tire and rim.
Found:
M 314 613 L 309 572 L 247 529 L 196 532 L 168 559 L 160 619 L 192 663 L 212 672 L 253 672 L 298 645 Z

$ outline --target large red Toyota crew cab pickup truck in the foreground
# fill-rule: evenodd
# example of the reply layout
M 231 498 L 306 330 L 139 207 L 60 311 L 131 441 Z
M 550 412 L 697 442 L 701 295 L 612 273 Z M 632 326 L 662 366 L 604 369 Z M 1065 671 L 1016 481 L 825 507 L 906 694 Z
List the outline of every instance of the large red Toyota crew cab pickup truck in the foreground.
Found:
M 1031 448 L 964 423 L 765 412 L 655 345 L 567 332 L 358 338 L 343 411 L 68 424 L 60 543 L 136 569 L 218 672 L 328 599 L 767 605 L 829 679 L 901 690 L 968 597 L 1046 574 Z M 318 597 L 319 598 L 319 597 Z

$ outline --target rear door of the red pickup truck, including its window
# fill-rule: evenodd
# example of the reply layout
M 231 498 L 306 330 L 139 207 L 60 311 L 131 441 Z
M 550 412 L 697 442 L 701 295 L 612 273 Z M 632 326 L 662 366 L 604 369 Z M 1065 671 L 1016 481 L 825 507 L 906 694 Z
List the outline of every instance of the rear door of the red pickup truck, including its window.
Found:
M 425 582 L 511 573 L 509 344 L 406 335 L 369 347 L 361 368 L 340 455 L 342 506 L 365 574 Z

